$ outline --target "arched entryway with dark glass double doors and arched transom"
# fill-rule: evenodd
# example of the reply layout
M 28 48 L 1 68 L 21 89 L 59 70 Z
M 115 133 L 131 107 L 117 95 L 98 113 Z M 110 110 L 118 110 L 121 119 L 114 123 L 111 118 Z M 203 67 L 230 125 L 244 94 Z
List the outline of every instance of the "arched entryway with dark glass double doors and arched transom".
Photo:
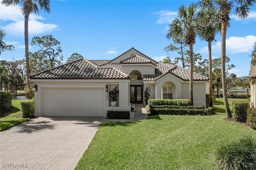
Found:
M 143 103 L 143 77 L 138 70 L 130 72 L 130 103 Z

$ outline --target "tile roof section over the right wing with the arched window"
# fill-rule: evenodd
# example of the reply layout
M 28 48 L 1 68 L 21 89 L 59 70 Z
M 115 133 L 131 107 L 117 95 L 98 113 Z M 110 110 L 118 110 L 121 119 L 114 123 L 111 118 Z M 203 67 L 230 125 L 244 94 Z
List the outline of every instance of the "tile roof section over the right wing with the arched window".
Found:
M 157 80 L 158 78 L 164 76 L 165 74 L 167 74 L 169 72 L 182 80 L 185 80 L 185 81 L 190 80 L 190 76 L 189 76 L 190 72 L 188 69 L 182 68 L 180 66 L 172 66 L 170 64 L 164 64 L 164 63 L 157 64 L 157 67 L 155 69 L 155 74 L 143 75 L 143 77 L 144 77 L 143 80 L 144 81 Z M 194 72 L 193 80 L 209 80 L 209 78 Z

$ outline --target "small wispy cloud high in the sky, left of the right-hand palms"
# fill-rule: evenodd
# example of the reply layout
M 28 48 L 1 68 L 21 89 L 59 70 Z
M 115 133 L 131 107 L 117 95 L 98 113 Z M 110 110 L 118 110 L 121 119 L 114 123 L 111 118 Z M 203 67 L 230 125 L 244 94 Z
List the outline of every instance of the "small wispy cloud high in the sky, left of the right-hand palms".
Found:
M 174 17 L 177 15 L 177 12 L 169 11 L 169 10 L 160 10 L 158 12 L 153 12 L 152 14 L 158 15 L 158 20 L 156 23 L 171 23 Z

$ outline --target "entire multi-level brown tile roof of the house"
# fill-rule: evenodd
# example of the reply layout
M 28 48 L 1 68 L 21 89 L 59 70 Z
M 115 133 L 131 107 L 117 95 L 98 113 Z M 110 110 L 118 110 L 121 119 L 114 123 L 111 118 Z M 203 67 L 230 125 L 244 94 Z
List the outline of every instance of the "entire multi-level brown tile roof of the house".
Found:
M 132 47 L 132 49 L 134 49 Z M 131 50 L 131 49 L 130 49 Z M 129 50 L 128 50 L 129 51 Z M 127 51 L 126 51 L 127 52 Z M 141 53 L 141 52 L 140 52 Z M 123 53 L 124 54 L 124 53 Z M 122 55 L 123 55 L 122 54 Z M 143 54 L 144 55 L 144 54 Z M 121 55 L 120 55 L 121 56 Z M 146 56 L 146 55 L 145 55 Z M 30 75 L 32 79 L 128 79 L 128 74 L 122 72 L 122 64 L 153 64 L 150 59 L 139 55 L 128 57 L 120 63 L 111 63 L 112 60 L 68 60 L 65 64 Z M 187 81 L 190 79 L 190 71 L 180 66 L 170 64 L 154 64 L 155 74 L 144 74 L 144 81 L 154 81 L 170 73 Z M 193 73 L 193 80 L 209 80 L 208 77 Z

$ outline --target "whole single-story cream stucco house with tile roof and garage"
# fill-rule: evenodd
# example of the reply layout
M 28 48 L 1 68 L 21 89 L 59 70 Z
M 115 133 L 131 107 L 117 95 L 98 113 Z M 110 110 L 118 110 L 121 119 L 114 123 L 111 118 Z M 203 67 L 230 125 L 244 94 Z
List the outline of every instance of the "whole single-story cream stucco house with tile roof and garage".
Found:
M 194 106 L 206 106 L 208 77 L 194 73 Z M 131 103 L 150 98 L 188 99 L 189 70 L 158 63 L 134 49 L 112 60 L 68 60 L 65 64 L 30 75 L 37 86 L 35 116 L 100 116 L 108 110 L 130 111 Z M 119 89 L 117 106 L 108 92 Z

